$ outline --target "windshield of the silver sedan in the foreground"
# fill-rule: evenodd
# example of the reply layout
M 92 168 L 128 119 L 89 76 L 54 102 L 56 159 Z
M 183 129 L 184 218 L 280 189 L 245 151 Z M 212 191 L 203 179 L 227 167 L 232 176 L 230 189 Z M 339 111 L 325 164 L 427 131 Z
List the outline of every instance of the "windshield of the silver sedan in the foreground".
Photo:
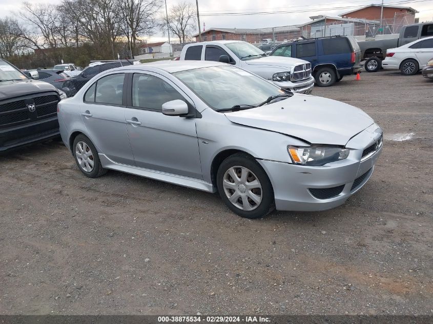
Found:
M 276 85 L 232 66 L 194 69 L 173 75 L 216 111 L 235 105 L 257 105 L 284 93 Z

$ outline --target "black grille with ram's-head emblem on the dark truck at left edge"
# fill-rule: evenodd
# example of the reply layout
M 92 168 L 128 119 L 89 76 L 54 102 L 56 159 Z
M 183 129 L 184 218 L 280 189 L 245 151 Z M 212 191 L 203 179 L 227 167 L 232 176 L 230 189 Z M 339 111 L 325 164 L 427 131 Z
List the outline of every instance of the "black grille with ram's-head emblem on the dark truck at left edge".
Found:
M 55 93 L 30 95 L 0 103 L 0 126 L 15 126 L 55 116 L 60 98 Z M 35 110 L 28 105 L 35 105 Z

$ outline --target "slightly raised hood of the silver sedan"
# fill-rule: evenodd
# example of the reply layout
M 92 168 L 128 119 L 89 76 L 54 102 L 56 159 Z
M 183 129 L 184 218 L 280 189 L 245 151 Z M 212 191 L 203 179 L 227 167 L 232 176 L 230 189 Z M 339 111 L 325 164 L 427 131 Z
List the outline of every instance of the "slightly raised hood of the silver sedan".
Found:
M 345 145 L 374 121 L 362 110 L 332 99 L 295 94 L 261 107 L 228 112 L 232 122 L 315 144 Z

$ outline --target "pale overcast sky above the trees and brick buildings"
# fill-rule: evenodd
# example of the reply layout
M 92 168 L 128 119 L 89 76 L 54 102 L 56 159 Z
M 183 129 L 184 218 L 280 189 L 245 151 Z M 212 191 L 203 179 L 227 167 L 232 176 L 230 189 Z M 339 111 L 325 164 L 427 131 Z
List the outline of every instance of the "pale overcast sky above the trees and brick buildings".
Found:
M 25 0 L 0 0 L 0 16 L 6 16 L 20 9 Z M 45 2 L 59 4 L 61 0 L 30 0 L 32 3 Z M 194 0 L 189 0 L 195 4 Z M 384 4 L 401 3 L 404 0 L 385 0 Z M 178 0 L 167 0 L 167 5 L 176 4 Z M 206 29 L 210 27 L 220 28 L 265 28 L 285 25 L 302 24 L 310 20 L 309 16 L 326 14 L 337 16 L 345 11 L 355 9 L 354 6 L 366 6 L 370 4 L 380 4 L 381 0 L 329 0 L 324 4 L 323 0 L 198 0 L 201 30 L 203 23 Z M 416 17 L 420 21 L 433 20 L 433 0 L 418 0 L 399 4 L 400 6 L 412 7 L 419 11 Z M 349 9 L 333 9 L 350 7 Z M 163 10 L 164 8 L 162 8 Z M 244 15 L 244 16 L 205 16 L 208 13 L 219 12 L 257 12 L 257 11 L 305 11 L 297 13 L 281 13 L 269 15 Z M 155 34 L 151 41 L 163 40 L 161 35 Z

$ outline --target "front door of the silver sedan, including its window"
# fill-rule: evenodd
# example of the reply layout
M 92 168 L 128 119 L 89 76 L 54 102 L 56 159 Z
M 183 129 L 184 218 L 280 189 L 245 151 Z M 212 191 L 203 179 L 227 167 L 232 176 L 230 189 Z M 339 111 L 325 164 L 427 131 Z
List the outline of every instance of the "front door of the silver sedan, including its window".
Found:
M 164 102 L 188 102 L 170 80 L 153 73 L 134 73 L 132 100 L 125 118 L 138 167 L 202 179 L 195 118 L 167 116 Z M 193 109 L 193 108 L 192 108 Z

